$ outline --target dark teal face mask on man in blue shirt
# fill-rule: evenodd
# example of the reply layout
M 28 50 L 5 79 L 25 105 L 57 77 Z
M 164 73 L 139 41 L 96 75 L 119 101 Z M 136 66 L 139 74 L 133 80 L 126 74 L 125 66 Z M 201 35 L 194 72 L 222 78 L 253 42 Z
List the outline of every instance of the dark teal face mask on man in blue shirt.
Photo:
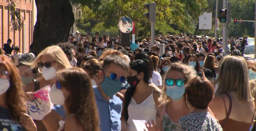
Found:
M 105 76 L 103 82 L 100 84 L 103 92 L 108 96 L 112 97 L 122 87 L 122 83 L 118 79 L 110 79 L 109 76 Z

